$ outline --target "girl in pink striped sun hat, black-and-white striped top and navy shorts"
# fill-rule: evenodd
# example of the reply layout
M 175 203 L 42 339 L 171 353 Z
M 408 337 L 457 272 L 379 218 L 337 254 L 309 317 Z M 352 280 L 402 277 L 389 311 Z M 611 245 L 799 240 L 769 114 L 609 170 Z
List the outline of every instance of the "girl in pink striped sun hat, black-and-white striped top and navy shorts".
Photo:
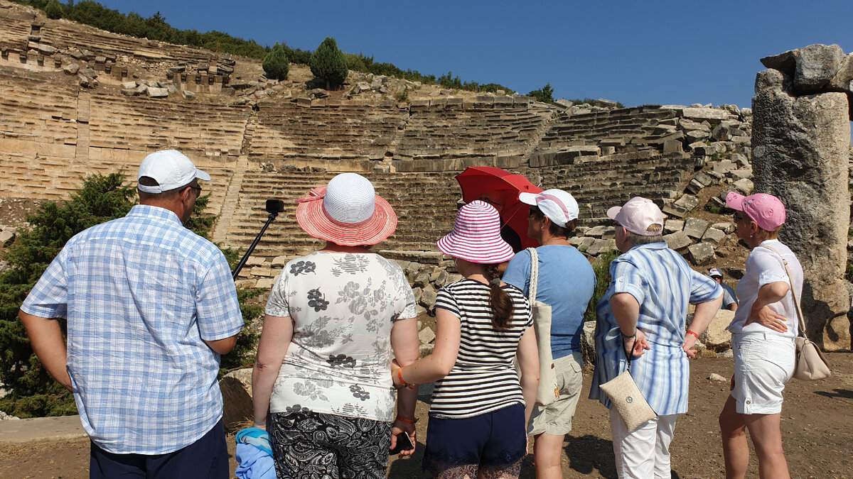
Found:
M 397 387 L 436 382 L 423 462 L 434 477 L 518 477 L 527 453 L 539 357 L 530 303 L 497 273 L 513 257 L 500 227 L 485 201 L 461 207 L 453 231 L 438 240 L 463 279 L 438 291 L 435 349 L 392 368 Z

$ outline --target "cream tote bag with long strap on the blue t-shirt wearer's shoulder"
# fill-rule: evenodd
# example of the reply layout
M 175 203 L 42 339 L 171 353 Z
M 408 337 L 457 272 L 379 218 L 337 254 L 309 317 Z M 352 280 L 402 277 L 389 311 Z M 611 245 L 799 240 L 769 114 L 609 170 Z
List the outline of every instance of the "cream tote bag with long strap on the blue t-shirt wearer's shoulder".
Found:
M 536 248 L 527 248 L 531 254 L 531 283 L 527 299 L 531 303 L 533 331 L 536 332 L 539 349 L 539 388 L 536 393 L 537 406 L 548 406 L 560 397 L 557 375 L 554 371 L 554 356 L 551 355 L 551 306 L 536 300 L 539 281 L 539 257 Z

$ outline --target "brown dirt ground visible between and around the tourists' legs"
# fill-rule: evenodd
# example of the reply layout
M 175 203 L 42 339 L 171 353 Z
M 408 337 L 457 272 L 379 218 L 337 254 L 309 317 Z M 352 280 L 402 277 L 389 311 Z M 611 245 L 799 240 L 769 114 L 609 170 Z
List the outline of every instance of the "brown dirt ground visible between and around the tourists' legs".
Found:
M 853 479 L 853 353 L 828 355 L 833 377 L 806 383 L 792 380 L 786 388 L 782 410 L 782 434 L 792 477 Z M 711 381 L 716 372 L 730 377 L 732 360 L 700 359 L 691 362 L 690 411 L 678 418 L 672 441 L 672 476 L 679 478 L 722 477 L 722 450 L 717 414 L 728 395 L 728 384 Z M 577 406 L 572 434 L 566 436 L 563 476 L 616 477 L 613 466 L 610 427 L 606 409 L 597 401 L 585 399 L 590 378 L 584 376 L 583 398 Z M 428 405 L 418 404 L 418 416 L 426 418 Z M 421 476 L 423 439 L 427 421 L 418 423 L 418 444 L 410 459 L 392 459 L 390 478 Z M 26 445 L 3 444 L 0 438 L 0 477 L 84 478 L 89 475 L 89 442 L 39 441 Z M 229 437 L 233 458 L 234 440 Z M 521 477 L 532 479 L 532 460 Z M 757 477 L 757 462 L 752 456 L 747 474 Z

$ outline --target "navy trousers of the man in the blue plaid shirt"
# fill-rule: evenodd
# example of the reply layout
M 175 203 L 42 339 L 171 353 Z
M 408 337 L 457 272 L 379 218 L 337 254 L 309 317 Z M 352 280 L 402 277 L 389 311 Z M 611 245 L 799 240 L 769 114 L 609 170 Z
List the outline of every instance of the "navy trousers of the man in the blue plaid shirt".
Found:
M 228 447 L 222 419 L 198 441 L 173 453 L 116 454 L 91 443 L 90 479 L 114 477 L 198 477 L 227 479 Z

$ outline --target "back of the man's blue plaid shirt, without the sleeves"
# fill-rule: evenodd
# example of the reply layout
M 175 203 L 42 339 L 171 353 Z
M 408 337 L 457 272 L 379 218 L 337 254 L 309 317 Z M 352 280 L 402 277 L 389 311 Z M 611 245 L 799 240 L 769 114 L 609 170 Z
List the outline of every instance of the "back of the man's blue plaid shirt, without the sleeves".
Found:
M 229 299 L 203 285 L 221 255 L 171 211 L 136 205 L 78 234 L 58 257 L 69 286 L 67 366 L 78 410 L 107 451 L 169 452 L 221 417 L 222 395 L 212 387 L 218 355 L 200 332 L 229 331 L 195 318 L 196 297 Z

